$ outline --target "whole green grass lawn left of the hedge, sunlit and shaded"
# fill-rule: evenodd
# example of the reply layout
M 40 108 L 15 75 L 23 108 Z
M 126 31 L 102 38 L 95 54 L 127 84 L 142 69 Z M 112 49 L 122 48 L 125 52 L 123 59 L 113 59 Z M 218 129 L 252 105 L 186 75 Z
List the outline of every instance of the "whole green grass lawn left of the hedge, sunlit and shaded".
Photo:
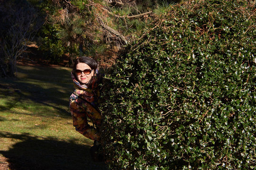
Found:
M 106 170 L 93 141 L 75 131 L 68 108 L 70 68 L 18 66 L 0 78 L 0 169 Z

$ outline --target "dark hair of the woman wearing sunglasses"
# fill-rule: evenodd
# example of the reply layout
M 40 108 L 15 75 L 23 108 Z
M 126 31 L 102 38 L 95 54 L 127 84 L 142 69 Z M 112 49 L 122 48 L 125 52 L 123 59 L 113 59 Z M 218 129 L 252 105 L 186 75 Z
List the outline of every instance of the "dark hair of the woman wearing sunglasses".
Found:
M 96 69 L 98 68 L 98 63 L 96 60 L 91 59 L 90 57 L 79 57 L 75 60 L 74 65 L 73 65 L 73 70 L 72 73 L 76 76 L 76 74 L 74 73 L 74 71 L 76 70 L 76 65 L 78 63 L 85 63 L 87 64 L 92 70 L 94 70 L 94 74 L 96 73 Z M 92 79 L 94 76 L 91 77 L 91 80 L 86 84 L 88 87 L 91 86 L 92 83 Z M 77 78 L 77 77 L 76 77 Z

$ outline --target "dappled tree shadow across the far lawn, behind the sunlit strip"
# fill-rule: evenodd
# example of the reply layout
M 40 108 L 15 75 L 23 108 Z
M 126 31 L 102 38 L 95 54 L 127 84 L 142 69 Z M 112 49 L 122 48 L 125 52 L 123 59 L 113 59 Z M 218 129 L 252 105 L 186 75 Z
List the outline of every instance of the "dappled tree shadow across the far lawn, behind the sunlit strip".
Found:
M 10 110 L 18 102 L 26 110 L 27 105 L 36 102 L 58 110 L 60 116 L 70 116 L 68 101 L 72 92 L 68 69 L 19 66 L 17 78 L 0 79 L 0 98 L 11 98 L 0 106 L 0 111 Z M 50 116 L 51 111 L 45 113 Z

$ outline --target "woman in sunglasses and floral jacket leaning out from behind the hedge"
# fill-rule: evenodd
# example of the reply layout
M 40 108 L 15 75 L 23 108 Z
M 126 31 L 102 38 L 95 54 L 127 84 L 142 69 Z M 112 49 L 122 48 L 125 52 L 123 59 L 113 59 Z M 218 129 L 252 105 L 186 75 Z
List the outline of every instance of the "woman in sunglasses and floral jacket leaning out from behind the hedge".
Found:
M 101 126 L 101 113 L 98 110 L 100 97 L 98 85 L 102 80 L 102 75 L 97 68 L 98 63 L 89 57 L 79 57 L 75 60 L 71 73 L 74 92 L 69 100 L 75 130 L 94 140 L 94 145 L 101 138 L 98 130 Z M 96 128 L 88 124 L 87 117 L 91 119 Z M 95 146 L 92 148 L 95 150 Z

